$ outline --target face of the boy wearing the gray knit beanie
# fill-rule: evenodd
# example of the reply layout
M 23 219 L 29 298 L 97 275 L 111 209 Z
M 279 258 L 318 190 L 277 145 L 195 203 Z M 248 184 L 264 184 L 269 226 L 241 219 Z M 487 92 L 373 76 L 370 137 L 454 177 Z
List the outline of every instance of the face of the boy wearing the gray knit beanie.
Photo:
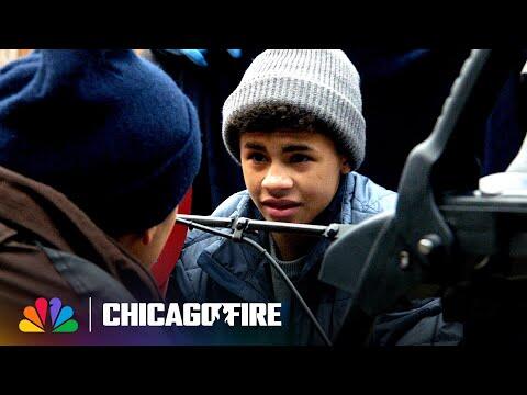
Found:
M 239 147 L 245 184 L 268 221 L 311 223 L 350 171 L 333 140 L 315 132 L 243 133 Z

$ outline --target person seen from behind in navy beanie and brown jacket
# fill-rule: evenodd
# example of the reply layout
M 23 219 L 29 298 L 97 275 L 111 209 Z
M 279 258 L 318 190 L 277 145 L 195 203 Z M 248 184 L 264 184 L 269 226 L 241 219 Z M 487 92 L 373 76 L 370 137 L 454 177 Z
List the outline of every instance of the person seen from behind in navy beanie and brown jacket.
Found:
M 42 341 L 19 331 L 41 297 L 74 307 L 79 332 L 88 297 L 162 300 L 148 268 L 199 169 L 197 120 L 132 50 L 36 50 L 0 70 L 2 341 Z

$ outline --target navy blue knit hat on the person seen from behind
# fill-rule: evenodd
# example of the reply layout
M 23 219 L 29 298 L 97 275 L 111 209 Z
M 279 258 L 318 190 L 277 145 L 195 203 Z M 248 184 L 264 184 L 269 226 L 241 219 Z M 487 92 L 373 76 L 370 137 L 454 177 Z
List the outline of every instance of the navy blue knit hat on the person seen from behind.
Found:
M 133 50 L 45 49 L 0 69 L 0 166 L 111 234 L 161 223 L 200 160 L 190 100 Z

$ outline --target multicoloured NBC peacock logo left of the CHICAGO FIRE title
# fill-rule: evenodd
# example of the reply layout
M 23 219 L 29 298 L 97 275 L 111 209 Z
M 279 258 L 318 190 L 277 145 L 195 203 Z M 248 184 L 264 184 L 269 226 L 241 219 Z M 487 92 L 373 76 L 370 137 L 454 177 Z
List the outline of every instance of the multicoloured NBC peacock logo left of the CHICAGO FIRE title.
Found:
M 40 297 L 35 306 L 24 308 L 24 319 L 19 323 L 19 329 L 23 332 L 43 334 L 46 332 L 46 318 L 49 312 L 52 332 L 72 334 L 79 329 L 79 324 L 72 319 L 74 309 L 70 306 L 63 306 L 58 297 L 47 300 Z M 49 331 L 49 330 L 47 330 Z

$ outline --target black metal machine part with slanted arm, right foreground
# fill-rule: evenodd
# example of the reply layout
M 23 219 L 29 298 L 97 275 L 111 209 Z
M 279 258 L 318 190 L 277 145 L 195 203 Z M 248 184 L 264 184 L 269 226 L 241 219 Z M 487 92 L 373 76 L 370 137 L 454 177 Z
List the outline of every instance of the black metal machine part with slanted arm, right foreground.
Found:
M 328 248 L 319 279 L 352 293 L 348 320 L 356 321 L 354 314 L 372 319 L 417 285 L 457 276 L 452 266 L 458 262 L 459 248 L 470 245 L 470 237 L 478 237 L 456 230 L 462 228 L 460 218 L 468 215 L 460 213 L 485 204 L 490 211 L 512 208 L 478 196 L 447 198 L 478 189 L 481 131 L 506 78 L 511 71 L 519 76 L 523 63 L 520 50 L 472 50 L 433 133 L 406 160 L 395 213 L 365 223 Z M 489 237 L 492 239 L 491 233 Z M 354 255 L 344 251 L 357 251 L 358 244 L 363 247 L 351 264 Z M 471 246 L 475 245 L 479 242 Z M 492 248 L 492 242 L 487 247 Z M 351 267 L 351 273 L 344 275 Z M 341 278 L 336 281 L 338 275 Z

